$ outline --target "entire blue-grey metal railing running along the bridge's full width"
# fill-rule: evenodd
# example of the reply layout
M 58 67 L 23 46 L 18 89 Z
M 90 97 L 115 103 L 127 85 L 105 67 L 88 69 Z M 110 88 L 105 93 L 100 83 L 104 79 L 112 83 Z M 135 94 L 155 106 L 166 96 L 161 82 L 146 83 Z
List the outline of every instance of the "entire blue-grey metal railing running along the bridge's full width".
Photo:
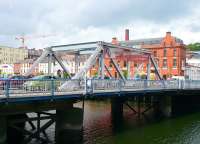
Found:
M 67 84 L 66 84 L 67 82 Z M 65 87 L 61 86 L 65 83 Z M 0 98 L 58 96 L 76 93 L 100 93 L 137 90 L 200 89 L 194 80 L 119 80 L 119 79 L 23 79 L 0 80 Z

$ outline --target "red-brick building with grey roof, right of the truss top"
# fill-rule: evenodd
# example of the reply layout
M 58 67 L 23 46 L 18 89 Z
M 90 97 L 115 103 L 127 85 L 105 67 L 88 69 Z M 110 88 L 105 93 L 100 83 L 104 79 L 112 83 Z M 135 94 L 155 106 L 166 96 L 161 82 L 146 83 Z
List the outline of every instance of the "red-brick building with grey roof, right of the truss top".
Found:
M 171 32 L 167 32 L 165 37 L 161 38 L 126 39 L 120 42 L 120 44 L 149 49 L 154 55 L 159 71 L 163 77 L 184 75 L 186 46 L 181 39 L 172 36 Z

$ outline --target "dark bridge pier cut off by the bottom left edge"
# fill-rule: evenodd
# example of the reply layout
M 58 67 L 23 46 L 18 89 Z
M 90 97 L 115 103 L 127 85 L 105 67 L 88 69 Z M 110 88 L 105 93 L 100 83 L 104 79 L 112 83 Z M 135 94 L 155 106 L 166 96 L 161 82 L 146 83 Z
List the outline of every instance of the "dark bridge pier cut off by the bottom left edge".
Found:
M 6 116 L 0 116 L 0 144 L 7 142 L 7 120 Z

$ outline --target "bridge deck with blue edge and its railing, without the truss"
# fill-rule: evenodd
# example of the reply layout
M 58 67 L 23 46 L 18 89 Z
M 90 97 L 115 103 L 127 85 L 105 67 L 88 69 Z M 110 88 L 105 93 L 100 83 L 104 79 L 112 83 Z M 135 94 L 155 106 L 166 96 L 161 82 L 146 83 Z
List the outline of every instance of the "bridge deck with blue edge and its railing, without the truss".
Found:
M 34 80 L 36 81 L 36 80 Z M 27 82 L 27 80 L 26 80 Z M 0 90 L 0 103 L 20 103 L 31 101 L 52 101 L 67 99 L 82 99 L 83 96 L 112 97 L 126 96 L 131 94 L 144 95 L 146 93 L 162 94 L 180 91 L 200 90 L 200 81 L 134 81 L 125 83 L 121 80 L 90 80 L 88 82 L 73 80 L 69 81 L 69 87 L 59 90 L 58 81 L 39 81 L 38 87 L 27 87 L 26 85 L 6 85 Z M 59 81 L 61 85 L 62 81 Z M 22 82 L 19 82 L 20 84 Z M 87 83 L 87 84 L 86 84 Z M 12 84 L 12 82 L 10 82 Z M 26 86 L 26 87 L 25 87 Z

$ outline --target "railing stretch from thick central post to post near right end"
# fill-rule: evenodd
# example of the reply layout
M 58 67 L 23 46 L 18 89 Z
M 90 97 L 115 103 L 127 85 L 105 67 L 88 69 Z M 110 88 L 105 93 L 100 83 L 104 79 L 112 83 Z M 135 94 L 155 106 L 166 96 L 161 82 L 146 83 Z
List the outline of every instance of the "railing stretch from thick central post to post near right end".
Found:
M 179 89 L 181 83 L 177 80 L 116 80 L 116 79 L 90 79 L 87 80 L 87 93 L 102 91 L 136 91 L 136 90 L 155 90 L 155 89 Z

